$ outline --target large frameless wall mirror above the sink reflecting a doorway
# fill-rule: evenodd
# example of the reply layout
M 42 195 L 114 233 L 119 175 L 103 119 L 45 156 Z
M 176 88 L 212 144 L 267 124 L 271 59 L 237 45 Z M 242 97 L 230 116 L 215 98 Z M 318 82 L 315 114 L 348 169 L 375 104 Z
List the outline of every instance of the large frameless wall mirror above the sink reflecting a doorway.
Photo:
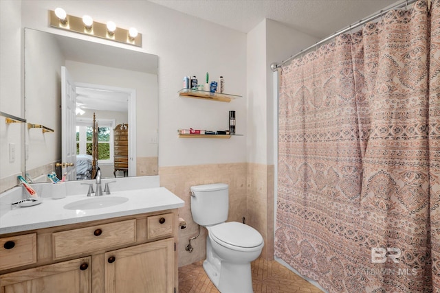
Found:
M 95 158 L 102 178 L 157 175 L 157 65 L 155 55 L 26 28 L 28 180 L 90 179 Z

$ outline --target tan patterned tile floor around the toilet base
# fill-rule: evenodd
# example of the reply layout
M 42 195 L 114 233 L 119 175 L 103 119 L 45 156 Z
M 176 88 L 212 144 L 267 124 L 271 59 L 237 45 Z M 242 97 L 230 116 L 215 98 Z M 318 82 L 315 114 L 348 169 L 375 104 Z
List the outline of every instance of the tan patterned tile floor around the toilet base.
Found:
M 219 293 L 202 266 L 203 261 L 179 268 L 180 293 Z M 254 293 L 320 293 L 314 285 L 277 261 L 256 259 L 251 263 Z

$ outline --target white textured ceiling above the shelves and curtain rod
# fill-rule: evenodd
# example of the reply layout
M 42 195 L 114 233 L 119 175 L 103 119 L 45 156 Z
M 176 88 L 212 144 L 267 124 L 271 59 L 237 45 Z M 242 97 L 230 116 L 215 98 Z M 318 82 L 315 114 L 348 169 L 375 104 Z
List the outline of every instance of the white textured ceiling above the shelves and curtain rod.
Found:
M 250 32 L 263 19 L 324 38 L 380 12 L 396 0 L 150 0 L 239 32 Z

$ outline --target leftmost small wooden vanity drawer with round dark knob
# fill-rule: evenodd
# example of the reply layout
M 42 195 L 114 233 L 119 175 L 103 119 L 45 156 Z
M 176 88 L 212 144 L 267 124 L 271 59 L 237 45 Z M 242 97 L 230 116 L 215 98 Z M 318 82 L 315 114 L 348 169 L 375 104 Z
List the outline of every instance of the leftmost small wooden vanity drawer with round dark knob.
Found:
M 0 239 L 0 270 L 36 263 L 36 233 Z

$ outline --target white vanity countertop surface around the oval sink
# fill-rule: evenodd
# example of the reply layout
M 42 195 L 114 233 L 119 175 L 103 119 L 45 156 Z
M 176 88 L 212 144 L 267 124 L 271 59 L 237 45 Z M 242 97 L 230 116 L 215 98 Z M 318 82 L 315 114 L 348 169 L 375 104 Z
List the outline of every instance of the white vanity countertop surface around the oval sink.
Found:
M 129 200 L 112 207 L 100 209 L 69 210 L 63 207 L 71 202 L 85 200 L 86 195 L 67 196 L 62 199 L 41 198 L 42 203 L 32 207 L 17 207 L 1 215 L 0 235 L 6 233 L 30 231 L 66 224 L 76 224 L 94 220 L 103 220 L 124 215 L 136 215 L 153 211 L 177 209 L 184 201 L 165 187 L 115 191 L 110 195 L 123 196 Z M 102 197 L 104 197 L 102 196 Z

